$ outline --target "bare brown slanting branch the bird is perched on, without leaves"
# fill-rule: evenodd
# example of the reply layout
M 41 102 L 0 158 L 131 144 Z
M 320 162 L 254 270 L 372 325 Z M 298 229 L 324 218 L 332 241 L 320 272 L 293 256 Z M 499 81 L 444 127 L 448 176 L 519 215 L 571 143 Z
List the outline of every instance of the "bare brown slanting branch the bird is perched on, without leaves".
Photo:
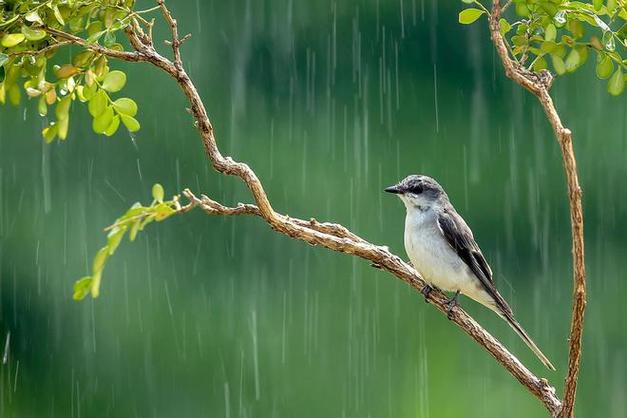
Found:
M 239 204 L 228 207 L 207 196 L 200 198 L 190 190 L 183 194 L 189 204 L 183 206 L 179 212 L 187 212 L 199 207 L 210 215 L 251 215 L 262 218 L 269 226 L 284 235 L 305 241 L 311 245 L 319 245 L 332 251 L 351 254 L 376 264 L 381 269 L 391 273 L 417 291 L 422 291 L 426 283 L 409 264 L 400 257 L 392 254 L 387 247 L 375 245 L 350 232 L 342 225 L 328 222 L 318 222 L 315 219 L 302 220 L 288 215 L 277 213 L 272 207 L 263 185 L 255 172 L 245 163 L 225 157 L 218 149 L 214 136 L 213 126 L 204 103 L 196 87 L 185 71 L 180 53 L 180 46 L 188 36 L 179 38 L 176 20 L 172 17 L 164 0 L 157 0 L 163 17 L 170 26 L 172 39 L 167 42 L 172 47 L 174 60 L 161 55 L 154 47 L 152 24 L 144 27 L 141 21 L 132 20 L 132 25 L 126 30 L 126 35 L 134 49 L 133 52 L 120 52 L 102 47 L 97 44 L 88 44 L 76 36 L 50 29 L 49 32 L 57 38 L 69 41 L 94 50 L 100 54 L 124 61 L 147 62 L 162 69 L 176 80 L 189 101 L 189 110 L 195 119 L 195 127 L 201 136 L 205 153 L 213 168 L 224 175 L 240 178 L 250 190 L 255 204 Z M 448 311 L 446 296 L 438 291 L 432 291 L 428 296 L 440 312 L 446 315 Z M 471 316 L 460 307 L 453 308 L 450 315 L 451 322 L 473 338 L 480 346 L 489 352 L 510 374 L 536 396 L 551 414 L 560 409 L 561 402 L 555 395 L 555 389 L 546 379 L 539 378 L 527 369 L 513 354 L 511 354 L 496 338 L 488 333 Z

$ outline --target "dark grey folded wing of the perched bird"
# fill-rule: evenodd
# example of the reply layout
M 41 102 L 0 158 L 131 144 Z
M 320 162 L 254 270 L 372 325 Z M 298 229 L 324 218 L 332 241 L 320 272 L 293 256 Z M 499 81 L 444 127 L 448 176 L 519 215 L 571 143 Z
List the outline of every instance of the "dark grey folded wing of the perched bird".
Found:
M 448 244 L 479 279 L 486 292 L 501 309 L 510 311 L 507 302 L 496 290 L 492 270 L 462 217 L 454 209 L 444 209 L 438 213 L 438 226 Z

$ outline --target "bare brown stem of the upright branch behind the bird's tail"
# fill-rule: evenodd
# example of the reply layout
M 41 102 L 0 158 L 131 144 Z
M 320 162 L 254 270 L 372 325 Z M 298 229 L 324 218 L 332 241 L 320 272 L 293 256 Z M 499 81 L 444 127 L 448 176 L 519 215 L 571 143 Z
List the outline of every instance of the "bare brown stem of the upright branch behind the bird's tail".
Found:
M 553 99 L 549 94 L 553 77 L 548 71 L 542 71 L 540 73 L 530 72 L 524 66 L 510 58 L 507 44 L 499 28 L 500 17 L 500 1 L 494 0 L 492 12 L 489 17 L 492 42 L 494 43 L 497 54 L 503 62 L 505 74 L 519 85 L 529 90 L 540 101 L 560 146 L 568 186 L 568 201 L 572 229 L 574 290 L 573 313 L 569 336 L 568 371 L 564 385 L 564 400 L 558 416 L 560 418 L 571 418 L 574 416 L 577 380 L 581 364 L 584 311 L 586 308 L 586 266 L 584 260 L 583 210 L 581 204 L 582 191 L 577 175 L 577 161 L 573 149 L 573 135 L 570 129 L 565 128 L 562 124 Z

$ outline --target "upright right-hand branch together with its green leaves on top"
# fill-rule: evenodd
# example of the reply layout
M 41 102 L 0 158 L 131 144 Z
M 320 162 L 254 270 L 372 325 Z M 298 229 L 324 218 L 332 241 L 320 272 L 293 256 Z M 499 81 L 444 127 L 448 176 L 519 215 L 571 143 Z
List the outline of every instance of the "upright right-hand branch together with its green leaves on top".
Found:
M 587 49 L 580 49 L 581 45 L 575 45 L 574 39 L 582 38 L 584 29 L 582 22 L 591 24 L 594 27 L 601 28 L 603 31 L 604 45 L 597 45 L 598 39 L 593 35 L 589 38 L 589 45 L 597 51 L 601 62 L 597 60 L 597 76 L 605 75 L 603 70 L 603 60 L 606 57 L 614 57 L 621 65 L 611 76 L 608 83 L 608 91 L 610 94 L 619 95 L 624 90 L 624 62 L 615 45 L 610 40 L 618 37 L 621 45 L 625 45 L 624 31 L 621 28 L 617 33 L 609 29 L 609 25 L 605 24 L 600 16 L 608 15 L 610 22 L 614 22 L 620 18 L 627 18 L 627 11 L 622 0 L 608 0 L 607 5 L 603 2 L 595 1 L 592 5 L 580 2 L 566 2 L 563 0 L 515 0 L 516 13 L 526 17 L 514 24 L 518 26 L 516 35 L 509 38 L 510 24 L 504 18 L 503 8 L 499 0 L 493 0 L 492 10 L 485 12 L 480 10 L 480 14 L 473 20 L 477 20 L 482 14 L 488 14 L 488 23 L 492 42 L 496 48 L 496 52 L 503 63 L 505 74 L 516 81 L 520 86 L 526 88 L 534 96 L 538 98 L 542 106 L 547 120 L 553 128 L 555 138 L 560 146 L 564 172 L 566 175 L 566 183 L 568 188 L 568 199 L 570 206 L 570 220 L 572 228 L 572 254 L 573 254 L 573 308 L 572 319 L 570 325 L 570 335 L 568 339 L 568 370 L 566 372 L 564 399 L 561 406 L 554 408 L 549 404 L 545 404 L 552 416 L 560 418 L 571 418 L 574 416 L 574 406 L 577 390 L 577 381 L 579 379 L 579 369 L 581 365 L 581 345 L 583 339 L 583 321 L 586 307 L 586 267 L 584 259 L 584 238 L 583 238 L 583 210 L 581 203 L 582 190 L 579 185 L 579 176 L 577 174 L 577 162 L 575 151 L 573 148 L 573 135 L 570 129 L 566 128 L 555 108 L 553 99 L 550 95 L 550 89 L 553 85 L 553 75 L 535 64 L 529 67 L 525 66 L 525 59 L 528 54 L 536 55 L 534 63 L 541 62 L 544 54 L 549 53 L 553 59 L 553 66 L 558 73 L 564 73 L 566 70 L 575 71 L 581 64 L 581 57 L 587 56 Z M 468 10 L 468 9 L 466 9 Z M 462 14 L 467 15 L 464 10 L 460 13 L 460 21 Z M 479 10 L 479 9 L 476 9 Z M 477 14 L 475 12 L 475 14 Z M 469 20 L 462 23 L 472 23 Z M 556 26 L 558 25 L 558 26 Z M 520 28 L 524 30 L 520 30 Z M 556 42 L 558 27 L 563 27 L 570 31 L 572 36 L 562 35 L 561 41 Z M 544 33 L 542 38 L 540 35 Z M 534 49 L 534 42 L 542 42 L 540 49 Z M 550 43 L 550 44 L 549 44 Z M 550 49 L 542 50 L 542 45 L 549 44 Z M 567 63 L 561 61 L 566 47 L 569 46 L 571 51 Z M 561 49 L 558 49 L 561 48 Z M 579 48 L 579 49 L 578 49 Z M 602 50 L 605 48 L 605 50 Z M 579 52 L 581 51 L 581 52 Z M 585 52 L 586 54 L 583 54 Z M 573 58 L 574 57 L 574 58 Z M 585 60 L 585 59 L 584 59 Z M 609 61 L 610 64 L 612 61 Z M 564 65 L 562 65 L 564 64 Z M 613 64 L 612 64 L 613 65 Z M 601 72 L 601 74 L 599 74 Z M 610 71 L 608 71 L 609 73 Z M 603 78 L 603 77 L 600 77 Z

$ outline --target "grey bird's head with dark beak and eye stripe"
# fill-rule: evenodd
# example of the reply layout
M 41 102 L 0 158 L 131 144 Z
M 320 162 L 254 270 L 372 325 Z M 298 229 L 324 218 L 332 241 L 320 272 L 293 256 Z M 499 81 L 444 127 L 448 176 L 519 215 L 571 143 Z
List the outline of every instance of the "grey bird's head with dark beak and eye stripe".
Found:
M 424 210 L 447 199 L 446 193 L 437 181 L 420 174 L 405 177 L 401 182 L 385 189 L 394 193 L 405 203 L 407 210 Z

